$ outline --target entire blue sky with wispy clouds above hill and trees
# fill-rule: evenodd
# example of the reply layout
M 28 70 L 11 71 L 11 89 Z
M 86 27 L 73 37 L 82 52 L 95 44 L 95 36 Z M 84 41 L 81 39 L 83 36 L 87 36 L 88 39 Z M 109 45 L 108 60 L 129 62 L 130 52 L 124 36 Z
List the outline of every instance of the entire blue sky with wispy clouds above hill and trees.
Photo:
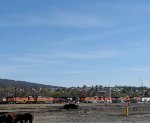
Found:
M 149 0 L 3 0 L 0 15 L 0 78 L 150 87 Z

